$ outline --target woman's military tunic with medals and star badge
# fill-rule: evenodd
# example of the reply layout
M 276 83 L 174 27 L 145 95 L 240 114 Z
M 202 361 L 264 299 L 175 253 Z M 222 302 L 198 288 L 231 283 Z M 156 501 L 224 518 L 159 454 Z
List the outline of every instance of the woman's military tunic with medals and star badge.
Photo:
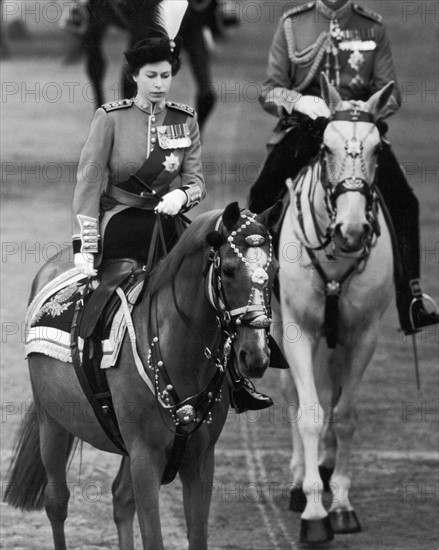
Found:
M 75 252 L 102 252 L 107 246 L 107 226 L 116 214 L 124 216 L 124 223 L 130 216 L 135 218 L 133 231 L 141 229 L 142 219 L 148 218 L 145 231 L 151 227 L 158 200 L 134 181 L 133 174 L 148 180 L 160 195 L 182 189 L 187 195 L 186 210 L 200 202 L 205 185 L 197 116 L 192 108 L 164 100 L 151 104 L 137 96 L 96 111 L 79 159 L 73 197 Z M 133 208 L 133 199 L 134 204 L 136 200 L 143 204 Z M 127 233 L 127 241 L 130 227 L 119 226 L 120 231 Z

